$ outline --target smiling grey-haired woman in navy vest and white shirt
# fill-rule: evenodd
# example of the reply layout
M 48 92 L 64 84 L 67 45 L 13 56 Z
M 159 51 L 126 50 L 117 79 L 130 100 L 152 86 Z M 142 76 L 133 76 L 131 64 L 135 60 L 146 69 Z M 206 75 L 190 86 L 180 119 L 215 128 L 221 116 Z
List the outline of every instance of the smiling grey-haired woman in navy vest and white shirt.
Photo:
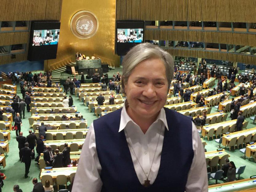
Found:
M 124 107 L 90 126 L 72 190 L 208 191 L 204 149 L 195 125 L 164 108 L 173 75 L 170 54 L 139 44 L 122 65 Z

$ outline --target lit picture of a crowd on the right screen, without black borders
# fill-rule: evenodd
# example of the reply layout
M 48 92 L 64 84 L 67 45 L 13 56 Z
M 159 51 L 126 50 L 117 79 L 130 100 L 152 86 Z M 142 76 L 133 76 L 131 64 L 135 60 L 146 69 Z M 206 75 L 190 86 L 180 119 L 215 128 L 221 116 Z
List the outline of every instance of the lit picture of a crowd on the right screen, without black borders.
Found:
M 142 43 L 143 29 L 118 29 L 118 43 Z

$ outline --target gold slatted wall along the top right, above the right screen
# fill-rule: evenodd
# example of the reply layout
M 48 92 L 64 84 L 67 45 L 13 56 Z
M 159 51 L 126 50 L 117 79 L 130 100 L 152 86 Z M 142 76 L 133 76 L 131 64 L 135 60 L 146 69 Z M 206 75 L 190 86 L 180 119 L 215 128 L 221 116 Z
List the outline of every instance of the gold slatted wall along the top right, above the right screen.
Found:
M 116 0 L 117 20 L 256 22 L 255 0 Z

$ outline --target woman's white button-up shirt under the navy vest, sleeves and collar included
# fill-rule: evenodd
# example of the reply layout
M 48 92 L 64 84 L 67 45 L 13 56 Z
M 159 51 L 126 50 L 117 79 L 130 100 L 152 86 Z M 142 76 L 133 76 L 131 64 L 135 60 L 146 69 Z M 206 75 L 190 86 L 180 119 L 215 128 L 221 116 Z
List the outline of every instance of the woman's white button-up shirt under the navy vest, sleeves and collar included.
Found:
M 144 180 L 147 177 L 150 180 L 150 184 L 153 184 L 156 179 L 160 167 L 165 128 L 168 131 L 166 114 L 163 108 L 160 110 L 156 121 L 148 128 L 145 134 L 128 116 L 126 108 L 122 108 L 119 132 L 125 130 L 134 169 L 141 184 L 144 184 Z M 192 123 L 192 144 L 194 158 L 188 173 L 186 192 L 206 192 L 208 191 L 208 177 L 204 148 L 194 123 Z M 72 190 L 76 192 L 100 192 L 102 188 L 100 173 L 101 166 L 96 151 L 95 132 L 92 123 L 82 148 Z

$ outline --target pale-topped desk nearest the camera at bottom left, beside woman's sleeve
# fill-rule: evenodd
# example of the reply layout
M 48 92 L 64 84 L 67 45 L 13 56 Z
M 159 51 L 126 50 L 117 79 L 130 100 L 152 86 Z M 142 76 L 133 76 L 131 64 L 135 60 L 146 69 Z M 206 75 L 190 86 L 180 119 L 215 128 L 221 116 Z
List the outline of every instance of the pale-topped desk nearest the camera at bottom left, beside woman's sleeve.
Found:
M 42 176 L 44 175 L 50 175 L 53 179 L 56 179 L 58 175 L 66 175 L 69 178 L 70 174 L 76 173 L 76 169 L 77 167 L 53 168 L 51 170 L 42 169 L 40 179 L 42 179 Z

